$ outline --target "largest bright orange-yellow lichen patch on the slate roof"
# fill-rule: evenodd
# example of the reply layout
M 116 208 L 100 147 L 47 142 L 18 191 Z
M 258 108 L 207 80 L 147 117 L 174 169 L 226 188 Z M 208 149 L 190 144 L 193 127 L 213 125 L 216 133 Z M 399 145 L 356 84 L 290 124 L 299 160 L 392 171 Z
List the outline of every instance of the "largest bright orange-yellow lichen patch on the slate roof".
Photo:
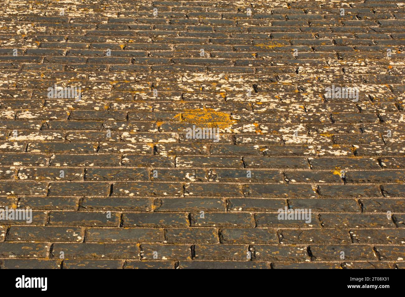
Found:
M 206 127 L 228 128 L 236 121 L 231 120 L 228 113 L 215 111 L 211 108 L 185 109 L 184 112 L 175 115 L 180 122 L 199 124 Z

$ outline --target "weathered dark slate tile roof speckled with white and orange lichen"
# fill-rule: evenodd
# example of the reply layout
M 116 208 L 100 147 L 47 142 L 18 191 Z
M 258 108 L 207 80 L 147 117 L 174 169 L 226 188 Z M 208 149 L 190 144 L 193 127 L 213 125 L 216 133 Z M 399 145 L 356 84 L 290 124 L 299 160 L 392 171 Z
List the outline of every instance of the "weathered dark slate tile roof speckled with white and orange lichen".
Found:
M 0 268 L 404 268 L 396 2 L 6 1 Z

